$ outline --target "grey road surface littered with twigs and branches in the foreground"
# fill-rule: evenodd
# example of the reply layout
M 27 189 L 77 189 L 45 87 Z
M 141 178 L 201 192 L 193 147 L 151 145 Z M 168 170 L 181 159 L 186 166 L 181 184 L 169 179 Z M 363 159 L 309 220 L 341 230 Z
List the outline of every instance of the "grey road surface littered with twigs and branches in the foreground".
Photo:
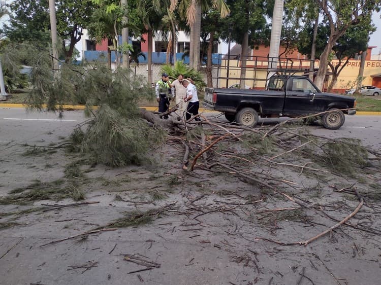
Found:
M 343 174 L 233 137 L 189 171 L 169 139 L 111 168 L 67 139 L 2 146 L 1 284 L 379 284 L 377 157 Z

